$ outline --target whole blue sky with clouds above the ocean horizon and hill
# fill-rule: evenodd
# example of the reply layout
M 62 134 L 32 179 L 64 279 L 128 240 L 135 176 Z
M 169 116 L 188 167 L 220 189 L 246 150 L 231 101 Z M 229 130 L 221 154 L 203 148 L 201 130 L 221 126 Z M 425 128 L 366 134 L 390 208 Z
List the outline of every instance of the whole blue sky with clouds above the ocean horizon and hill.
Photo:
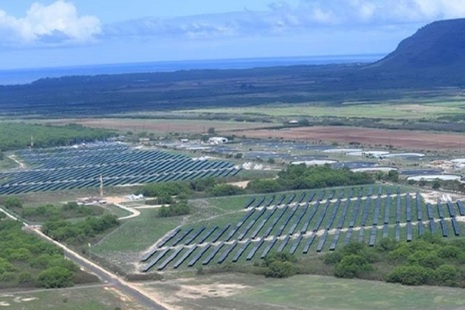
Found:
M 0 69 L 388 53 L 465 0 L 0 0 Z

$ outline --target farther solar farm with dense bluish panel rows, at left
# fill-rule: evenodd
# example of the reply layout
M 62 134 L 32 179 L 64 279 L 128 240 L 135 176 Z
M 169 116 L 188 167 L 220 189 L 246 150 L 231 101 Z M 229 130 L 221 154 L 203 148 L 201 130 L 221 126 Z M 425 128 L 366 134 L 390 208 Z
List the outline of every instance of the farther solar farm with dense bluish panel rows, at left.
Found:
M 0 195 L 182 181 L 234 176 L 225 161 L 195 160 L 182 154 L 137 149 L 125 144 L 22 150 L 29 167 L 0 173 Z

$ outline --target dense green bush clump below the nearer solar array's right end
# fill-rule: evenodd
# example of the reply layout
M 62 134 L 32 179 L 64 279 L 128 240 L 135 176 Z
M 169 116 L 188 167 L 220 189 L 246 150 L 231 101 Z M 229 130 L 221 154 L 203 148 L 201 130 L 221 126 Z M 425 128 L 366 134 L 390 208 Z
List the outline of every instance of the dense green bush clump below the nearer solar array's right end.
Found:
M 325 256 L 342 278 L 381 278 L 404 285 L 465 287 L 465 242 L 431 234 L 412 242 L 383 239 L 375 247 L 350 243 Z

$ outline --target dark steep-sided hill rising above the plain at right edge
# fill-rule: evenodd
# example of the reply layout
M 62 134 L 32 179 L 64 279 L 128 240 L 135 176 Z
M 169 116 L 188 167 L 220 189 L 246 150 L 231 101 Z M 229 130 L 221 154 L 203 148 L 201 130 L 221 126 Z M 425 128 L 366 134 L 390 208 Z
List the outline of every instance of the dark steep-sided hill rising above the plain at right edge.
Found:
M 370 67 L 386 71 L 460 74 L 465 68 L 465 18 L 436 21 L 403 40 L 395 51 Z

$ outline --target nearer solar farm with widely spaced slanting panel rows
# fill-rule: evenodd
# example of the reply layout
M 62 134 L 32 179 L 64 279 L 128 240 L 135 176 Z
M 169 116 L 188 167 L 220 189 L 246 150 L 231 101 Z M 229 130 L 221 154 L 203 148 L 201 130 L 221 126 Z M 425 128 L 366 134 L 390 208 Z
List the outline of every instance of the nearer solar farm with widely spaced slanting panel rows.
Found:
M 400 187 L 368 186 L 255 195 L 237 222 L 172 230 L 140 257 L 141 272 L 257 261 L 275 252 L 333 251 L 351 241 L 460 236 L 465 203 L 426 203 Z

